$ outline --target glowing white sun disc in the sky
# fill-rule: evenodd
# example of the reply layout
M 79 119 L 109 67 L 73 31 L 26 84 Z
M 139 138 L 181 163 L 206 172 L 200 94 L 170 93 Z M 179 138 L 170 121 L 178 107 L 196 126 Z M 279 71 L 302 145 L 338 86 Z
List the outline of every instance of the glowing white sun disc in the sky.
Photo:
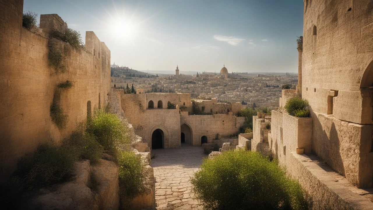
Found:
M 136 25 L 130 19 L 117 18 L 111 24 L 112 34 L 119 39 L 132 41 L 136 35 Z

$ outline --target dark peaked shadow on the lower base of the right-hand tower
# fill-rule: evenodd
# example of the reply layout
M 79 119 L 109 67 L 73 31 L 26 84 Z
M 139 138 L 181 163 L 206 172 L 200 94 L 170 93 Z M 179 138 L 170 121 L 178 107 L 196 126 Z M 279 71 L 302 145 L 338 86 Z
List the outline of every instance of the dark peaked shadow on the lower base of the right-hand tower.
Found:
M 330 124 L 329 137 L 327 130 L 324 130 L 320 122 L 320 119 L 310 111 L 311 117 L 313 118 L 313 139 L 312 139 L 312 151 L 314 154 L 322 158 L 330 167 L 341 175 L 345 175 L 345 169 L 342 161 L 340 142 L 338 138 L 338 132 L 336 130 L 334 122 Z M 322 119 L 324 120 L 324 119 Z M 324 127 L 327 128 L 328 121 L 326 121 Z M 348 151 L 346 151 L 348 152 Z M 351 151 L 353 152 L 353 151 Z

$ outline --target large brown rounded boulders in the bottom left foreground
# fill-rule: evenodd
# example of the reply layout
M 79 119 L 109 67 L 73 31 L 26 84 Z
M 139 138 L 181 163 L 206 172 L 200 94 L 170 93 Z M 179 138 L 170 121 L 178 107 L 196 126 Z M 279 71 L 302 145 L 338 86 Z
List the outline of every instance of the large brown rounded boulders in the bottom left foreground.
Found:
M 99 160 L 75 163 L 72 181 L 33 192 L 24 209 L 40 210 L 116 210 L 119 207 L 118 168 Z

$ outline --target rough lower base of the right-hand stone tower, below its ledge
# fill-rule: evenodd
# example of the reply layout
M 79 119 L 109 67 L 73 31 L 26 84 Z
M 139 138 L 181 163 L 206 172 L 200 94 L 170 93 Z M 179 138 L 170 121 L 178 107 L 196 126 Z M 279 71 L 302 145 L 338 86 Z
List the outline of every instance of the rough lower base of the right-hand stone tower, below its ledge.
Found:
M 312 149 L 333 170 L 361 188 L 372 186 L 372 126 L 312 113 Z

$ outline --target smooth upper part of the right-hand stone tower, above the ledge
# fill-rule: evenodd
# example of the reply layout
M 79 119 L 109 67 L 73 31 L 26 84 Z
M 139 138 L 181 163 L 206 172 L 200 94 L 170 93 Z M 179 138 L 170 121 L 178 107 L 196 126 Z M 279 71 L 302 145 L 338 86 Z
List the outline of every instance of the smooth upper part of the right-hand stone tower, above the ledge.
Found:
M 372 90 L 363 93 L 373 84 L 372 11 L 370 0 L 304 4 L 302 97 L 313 111 L 327 114 L 328 93 L 337 90 L 329 102 L 337 119 L 373 123 Z

